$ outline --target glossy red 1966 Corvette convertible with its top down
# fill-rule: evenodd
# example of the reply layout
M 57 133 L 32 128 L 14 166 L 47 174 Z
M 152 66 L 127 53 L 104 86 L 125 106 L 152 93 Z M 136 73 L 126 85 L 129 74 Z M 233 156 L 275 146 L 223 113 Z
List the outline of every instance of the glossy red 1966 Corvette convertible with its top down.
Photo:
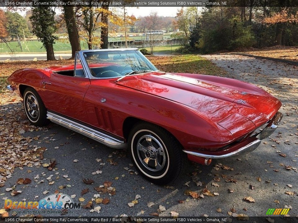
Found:
M 21 69 L 8 81 L 32 125 L 51 120 L 113 148 L 129 148 L 138 172 L 166 184 L 187 158 L 244 155 L 271 135 L 281 102 L 234 79 L 161 72 L 138 49 L 82 50 L 75 64 Z

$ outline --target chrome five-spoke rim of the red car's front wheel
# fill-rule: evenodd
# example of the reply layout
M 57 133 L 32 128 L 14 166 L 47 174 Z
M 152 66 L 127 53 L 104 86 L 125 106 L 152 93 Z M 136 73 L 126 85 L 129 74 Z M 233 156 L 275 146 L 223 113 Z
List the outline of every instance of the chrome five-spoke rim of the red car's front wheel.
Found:
M 139 138 L 137 154 L 143 166 L 150 171 L 160 171 L 166 164 L 164 147 L 152 135 L 143 135 Z

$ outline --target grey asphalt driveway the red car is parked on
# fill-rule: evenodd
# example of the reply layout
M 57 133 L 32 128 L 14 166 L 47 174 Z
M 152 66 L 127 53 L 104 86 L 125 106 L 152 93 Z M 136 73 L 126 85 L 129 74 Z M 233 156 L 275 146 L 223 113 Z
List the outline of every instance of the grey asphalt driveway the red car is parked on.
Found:
M 214 160 L 210 166 L 190 163 L 183 177 L 163 187 L 153 185 L 136 175 L 134 167 L 130 166 L 131 162 L 126 151 L 102 146 L 82 135 L 51 124 L 48 128 L 26 131 L 23 136 L 34 139 L 29 142 L 29 146 L 47 148 L 43 154 L 42 163 L 49 163 L 50 159 L 54 158 L 57 161 L 56 170 L 49 171 L 43 166 L 16 168 L 5 186 L 0 188 L 3 194 L 0 196 L 0 207 L 3 206 L 3 198 L 39 200 L 45 196 L 43 195 L 45 190 L 49 191 L 48 194 L 60 190 L 67 195 L 76 195 L 75 202 L 83 197 L 85 201 L 82 203 L 86 204 L 94 194 L 97 194 L 94 187 L 103 185 L 104 181 L 111 181 L 116 194 L 100 195 L 100 198 L 109 198 L 110 203 L 96 204 L 95 207 L 101 207 L 99 213 L 91 213 L 90 209 L 81 209 L 72 214 L 68 213 L 66 216 L 119 216 L 121 214 L 147 216 L 158 212 L 159 205 L 166 208 L 160 216 L 170 216 L 172 211 L 178 212 L 179 216 L 201 216 L 203 214 L 227 216 L 231 209 L 237 214 L 264 216 L 268 208 L 284 208 L 285 205 L 293 207 L 289 215 L 297 216 L 297 67 L 239 55 L 205 55 L 204 57 L 228 71 L 230 77 L 254 83 L 281 99 L 283 103 L 281 111 L 285 115 L 282 124 L 278 131 L 273 133 L 271 138 L 264 140 L 257 150 L 241 158 Z M 4 119 L 9 115 L 9 117 L 16 117 L 15 119 L 21 125 L 28 125 L 20 103 L 2 105 L 0 112 L 6 114 Z M 286 154 L 286 157 L 279 154 Z M 96 159 L 102 159 L 105 165 L 101 166 Z M 73 160 L 78 160 L 78 162 L 73 162 Z M 229 167 L 230 170 L 226 170 L 223 165 Z M 285 166 L 291 166 L 291 168 L 287 170 Z M 101 174 L 92 174 L 99 169 L 102 170 Z M 44 180 L 44 182 L 38 184 L 33 181 L 36 175 L 39 175 L 36 181 Z M 47 180 L 50 175 L 53 175 L 52 178 Z M 64 175 L 68 177 L 65 178 Z M 14 186 L 17 179 L 21 177 L 30 178 L 32 182 L 28 185 L 16 185 L 16 190 L 22 190 L 22 193 L 12 197 L 5 189 Z M 260 181 L 257 180 L 258 177 Z M 83 178 L 91 178 L 94 183 L 84 184 Z M 196 186 L 192 181 L 194 178 L 198 178 L 202 186 Z M 49 185 L 50 181 L 55 181 L 55 183 Z M 188 181 L 190 181 L 189 186 L 185 186 L 184 184 Z M 61 185 L 70 187 L 59 189 Z M 292 185 L 292 188 L 287 185 Z M 185 190 L 200 192 L 204 187 L 219 195 L 204 195 L 204 198 L 200 199 L 184 195 Z M 90 192 L 81 196 L 81 191 L 85 188 L 88 188 Z M 285 194 L 287 191 L 293 192 L 294 195 Z M 134 200 L 136 195 L 141 196 L 138 203 L 134 207 L 129 207 L 128 203 Z M 246 202 L 243 200 L 244 197 L 252 197 L 255 202 Z M 148 202 L 154 202 L 155 205 L 148 208 Z

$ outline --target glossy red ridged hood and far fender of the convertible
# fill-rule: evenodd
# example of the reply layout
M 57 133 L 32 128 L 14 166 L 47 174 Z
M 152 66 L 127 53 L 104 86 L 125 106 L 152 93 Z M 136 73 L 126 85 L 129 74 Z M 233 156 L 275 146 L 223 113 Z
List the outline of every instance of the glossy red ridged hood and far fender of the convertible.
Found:
M 264 90 L 223 77 L 152 72 L 125 77 L 117 84 L 191 107 L 223 127 L 233 120 L 258 127 L 281 106 Z

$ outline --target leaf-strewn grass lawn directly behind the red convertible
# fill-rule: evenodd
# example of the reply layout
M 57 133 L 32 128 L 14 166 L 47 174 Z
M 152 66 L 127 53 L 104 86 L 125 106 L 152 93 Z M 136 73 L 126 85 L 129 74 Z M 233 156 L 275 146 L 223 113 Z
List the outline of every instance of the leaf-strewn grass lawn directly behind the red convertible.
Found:
M 200 73 L 207 75 L 224 76 L 225 72 L 211 63 L 209 60 L 197 55 L 176 55 L 176 56 L 148 56 L 148 59 L 161 71 Z M 6 79 L 14 71 L 22 68 L 44 68 L 52 65 L 72 64 L 73 60 L 57 61 L 13 61 L 0 63 L 0 92 L 3 92 L 7 83 Z

